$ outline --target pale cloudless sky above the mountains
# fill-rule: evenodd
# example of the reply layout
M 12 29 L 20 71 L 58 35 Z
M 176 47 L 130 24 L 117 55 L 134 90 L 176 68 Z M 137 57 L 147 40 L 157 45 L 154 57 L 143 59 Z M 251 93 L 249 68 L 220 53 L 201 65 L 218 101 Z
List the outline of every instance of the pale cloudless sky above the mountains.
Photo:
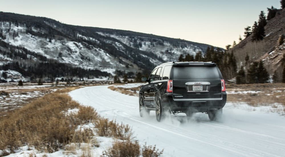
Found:
M 279 0 L 0 0 L 0 11 L 130 30 L 225 48 Z

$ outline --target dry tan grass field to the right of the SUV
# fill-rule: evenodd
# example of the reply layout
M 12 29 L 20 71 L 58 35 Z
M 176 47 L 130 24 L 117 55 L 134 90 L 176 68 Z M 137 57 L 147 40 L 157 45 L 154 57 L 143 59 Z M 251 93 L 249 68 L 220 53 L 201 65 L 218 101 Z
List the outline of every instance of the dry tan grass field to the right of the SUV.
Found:
M 279 103 L 285 106 L 285 83 L 229 84 L 227 91 L 259 91 L 257 93 L 227 94 L 228 102 L 247 102 L 252 106 Z

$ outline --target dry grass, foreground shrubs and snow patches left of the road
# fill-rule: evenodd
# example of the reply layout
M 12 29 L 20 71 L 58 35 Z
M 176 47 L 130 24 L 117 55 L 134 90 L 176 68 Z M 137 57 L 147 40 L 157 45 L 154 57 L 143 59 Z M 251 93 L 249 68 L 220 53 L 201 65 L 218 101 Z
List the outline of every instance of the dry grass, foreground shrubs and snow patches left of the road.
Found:
M 20 146 L 34 146 L 42 152 L 55 152 L 65 149 L 67 155 L 76 154 L 76 149 L 83 150 L 81 156 L 92 156 L 91 147 L 99 144 L 95 135 L 107 136 L 124 140 L 123 147 L 115 143 L 114 148 L 135 150 L 126 152 L 137 154 L 136 143 L 131 142 L 133 133 L 131 127 L 118 124 L 100 117 L 89 106 L 80 106 L 66 94 L 79 87 L 71 87 L 33 100 L 27 105 L 9 112 L 0 119 L 0 156 L 9 155 Z M 77 108 L 77 113 L 69 113 L 68 110 Z M 95 128 L 80 127 L 93 123 Z M 80 143 L 88 143 L 82 148 Z M 90 145 L 89 145 L 90 144 Z M 120 146 L 119 146 L 120 145 Z M 140 151 L 140 150 L 139 150 Z M 156 154 L 154 147 L 144 147 L 145 154 Z M 34 155 L 34 154 L 31 154 Z

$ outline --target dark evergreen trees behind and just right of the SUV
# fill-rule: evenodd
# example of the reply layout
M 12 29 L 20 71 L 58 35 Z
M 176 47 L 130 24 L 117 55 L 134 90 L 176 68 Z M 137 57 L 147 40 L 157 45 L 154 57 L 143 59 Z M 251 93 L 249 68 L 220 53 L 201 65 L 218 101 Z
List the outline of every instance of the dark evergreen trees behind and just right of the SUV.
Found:
M 236 77 L 237 84 L 268 83 L 270 79 L 262 61 L 250 63 L 249 56 L 247 56 L 245 62 L 246 65 L 249 65 L 249 68 L 244 69 L 242 67 L 240 71 L 237 71 L 237 61 L 233 55 L 233 51 L 215 50 L 214 47 L 208 47 L 204 56 L 202 56 L 201 52 L 195 56 L 187 54 L 184 57 L 180 55 L 178 61 L 212 61 L 218 65 L 224 79 L 228 80 Z

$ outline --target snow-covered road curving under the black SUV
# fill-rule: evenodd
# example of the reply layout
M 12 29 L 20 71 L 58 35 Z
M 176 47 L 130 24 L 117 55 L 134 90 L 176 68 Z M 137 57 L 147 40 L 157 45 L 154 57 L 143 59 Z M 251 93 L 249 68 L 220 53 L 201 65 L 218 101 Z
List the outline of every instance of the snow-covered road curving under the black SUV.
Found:
M 197 113 L 187 120 L 183 113 L 157 122 L 155 112 L 141 118 L 139 98 L 91 86 L 70 92 L 83 105 L 94 107 L 106 118 L 129 124 L 135 139 L 164 149 L 164 156 L 285 156 L 285 117 L 247 111 L 227 103 L 223 120 L 210 122 Z

